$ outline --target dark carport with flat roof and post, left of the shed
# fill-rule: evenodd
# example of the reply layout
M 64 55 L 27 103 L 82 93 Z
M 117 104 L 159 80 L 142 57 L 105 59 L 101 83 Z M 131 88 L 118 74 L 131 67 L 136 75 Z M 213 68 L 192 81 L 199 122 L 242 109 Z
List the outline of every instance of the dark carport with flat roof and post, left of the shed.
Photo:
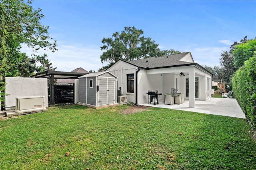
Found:
M 30 77 L 32 78 L 49 78 L 50 79 L 50 105 L 54 104 L 54 78 L 58 79 L 76 79 L 88 73 L 84 72 L 63 72 L 63 71 L 46 71 Z

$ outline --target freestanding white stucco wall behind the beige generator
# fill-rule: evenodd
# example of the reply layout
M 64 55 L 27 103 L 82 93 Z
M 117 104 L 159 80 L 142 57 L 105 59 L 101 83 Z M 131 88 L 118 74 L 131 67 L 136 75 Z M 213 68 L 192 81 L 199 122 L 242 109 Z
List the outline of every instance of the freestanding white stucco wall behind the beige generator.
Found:
M 5 81 L 5 93 L 9 94 L 5 96 L 6 110 L 14 109 L 16 97 L 22 96 L 44 96 L 48 107 L 47 78 L 6 77 Z

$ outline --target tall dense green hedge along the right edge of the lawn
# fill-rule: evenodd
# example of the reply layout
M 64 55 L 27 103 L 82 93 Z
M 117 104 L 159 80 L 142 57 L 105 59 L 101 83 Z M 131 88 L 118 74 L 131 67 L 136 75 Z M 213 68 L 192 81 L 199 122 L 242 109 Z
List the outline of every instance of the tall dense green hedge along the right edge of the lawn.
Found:
M 256 129 L 256 55 L 235 72 L 232 86 L 236 100 Z

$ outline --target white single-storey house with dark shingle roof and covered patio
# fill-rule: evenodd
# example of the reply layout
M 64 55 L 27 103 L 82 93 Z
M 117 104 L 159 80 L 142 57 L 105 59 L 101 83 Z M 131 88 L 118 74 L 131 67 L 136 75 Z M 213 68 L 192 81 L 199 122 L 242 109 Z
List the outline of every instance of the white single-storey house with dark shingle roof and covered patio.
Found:
M 158 93 L 171 93 L 175 88 L 184 94 L 189 107 L 195 107 L 195 100 L 207 100 L 206 93 L 212 88 L 212 74 L 194 63 L 190 52 L 151 57 L 134 61 L 119 60 L 106 71 L 117 76 L 117 89 L 128 96 L 128 102 L 147 103 L 148 90 Z M 163 99 L 163 95 L 160 96 Z

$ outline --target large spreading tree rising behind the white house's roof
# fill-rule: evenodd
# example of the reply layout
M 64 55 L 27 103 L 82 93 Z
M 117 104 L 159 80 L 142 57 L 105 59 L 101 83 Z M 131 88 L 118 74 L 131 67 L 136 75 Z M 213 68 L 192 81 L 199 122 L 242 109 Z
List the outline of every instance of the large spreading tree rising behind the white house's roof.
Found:
M 101 50 L 104 50 L 100 56 L 101 62 L 109 62 L 110 64 L 123 59 L 132 61 L 134 59 L 159 57 L 163 55 L 177 54 L 179 51 L 163 50 L 158 48 L 149 37 L 142 36 L 144 31 L 135 27 L 124 27 L 121 33 L 115 32 L 112 38 L 103 38 Z

